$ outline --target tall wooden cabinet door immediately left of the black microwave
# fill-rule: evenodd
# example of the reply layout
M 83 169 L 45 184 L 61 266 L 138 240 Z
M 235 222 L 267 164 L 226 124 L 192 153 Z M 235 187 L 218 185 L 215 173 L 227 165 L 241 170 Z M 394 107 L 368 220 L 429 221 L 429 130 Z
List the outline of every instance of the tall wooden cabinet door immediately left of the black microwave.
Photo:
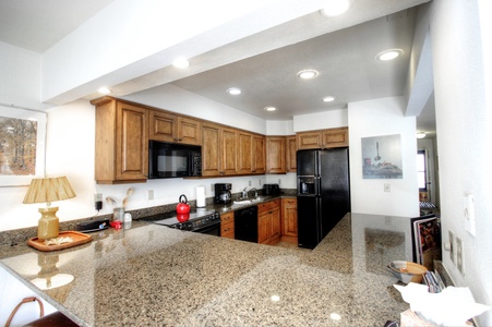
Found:
M 116 180 L 146 180 L 148 175 L 148 110 L 118 102 Z

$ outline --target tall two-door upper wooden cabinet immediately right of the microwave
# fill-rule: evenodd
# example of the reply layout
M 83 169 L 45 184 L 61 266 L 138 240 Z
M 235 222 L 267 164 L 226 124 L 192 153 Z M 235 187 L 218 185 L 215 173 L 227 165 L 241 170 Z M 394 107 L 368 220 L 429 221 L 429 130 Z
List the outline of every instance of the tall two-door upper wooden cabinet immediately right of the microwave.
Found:
M 238 130 L 202 124 L 202 175 L 238 174 Z

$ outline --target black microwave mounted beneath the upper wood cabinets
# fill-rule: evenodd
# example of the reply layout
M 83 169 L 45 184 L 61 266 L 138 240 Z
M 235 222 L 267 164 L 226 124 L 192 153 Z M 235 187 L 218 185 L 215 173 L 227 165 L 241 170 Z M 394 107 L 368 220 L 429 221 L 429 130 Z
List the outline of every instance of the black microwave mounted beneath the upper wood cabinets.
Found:
M 148 179 L 201 175 L 201 146 L 148 141 Z

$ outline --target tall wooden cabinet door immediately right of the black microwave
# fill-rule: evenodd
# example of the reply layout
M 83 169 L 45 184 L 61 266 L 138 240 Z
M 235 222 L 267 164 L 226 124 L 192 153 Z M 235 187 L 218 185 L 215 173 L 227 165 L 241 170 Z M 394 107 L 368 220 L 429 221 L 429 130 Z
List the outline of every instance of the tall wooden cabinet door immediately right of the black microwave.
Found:
M 220 174 L 220 126 L 204 123 L 202 128 L 202 175 Z

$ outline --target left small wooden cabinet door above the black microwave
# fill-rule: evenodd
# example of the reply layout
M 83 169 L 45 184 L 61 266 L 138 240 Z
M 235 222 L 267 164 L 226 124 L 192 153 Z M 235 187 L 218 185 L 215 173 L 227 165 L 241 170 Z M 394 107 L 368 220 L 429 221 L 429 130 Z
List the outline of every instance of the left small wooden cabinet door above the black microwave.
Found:
M 151 140 L 161 142 L 178 142 L 178 117 L 167 112 L 151 110 L 149 112 Z

